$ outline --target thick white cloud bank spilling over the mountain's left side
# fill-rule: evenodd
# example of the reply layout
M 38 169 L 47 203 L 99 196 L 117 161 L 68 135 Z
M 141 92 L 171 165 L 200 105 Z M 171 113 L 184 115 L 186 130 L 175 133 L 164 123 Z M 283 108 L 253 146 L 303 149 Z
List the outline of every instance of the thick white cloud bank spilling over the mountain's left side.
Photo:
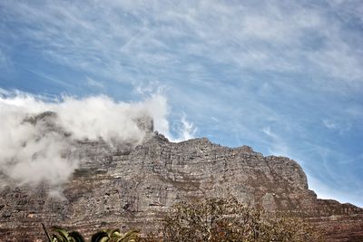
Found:
M 171 140 L 168 104 L 161 94 L 142 102 L 115 102 L 107 96 L 47 100 L 17 93 L 0 94 L 0 180 L 6 185 L 59 188 L 80 165 L 78 140 L 103 140 L 111 146 L 142 142 L 140 119 L 151 117 L 156 131 Z M 185 119 L 182 138 L 191 138 Z

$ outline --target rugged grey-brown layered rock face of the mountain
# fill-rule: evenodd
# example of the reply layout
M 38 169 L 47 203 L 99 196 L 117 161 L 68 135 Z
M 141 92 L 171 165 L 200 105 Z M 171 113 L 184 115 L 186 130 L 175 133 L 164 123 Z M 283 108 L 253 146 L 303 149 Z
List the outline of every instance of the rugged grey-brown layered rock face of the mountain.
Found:
M 328 241 L 363 241 L 363 210 L 317 199 L 304 171 L 288 158 L 207 139 L 172 143 L 157 133 L 133 149 L 85 141 L 77 146 L 86 155 L 64 185 L 64 198 L 49 196 L 46 185 L 1 190 L 1 241 L 44 241 L 41 222 L 85 235 L 104 227 L 146 231 L 176 202 L 230 195 L 307 218 Z

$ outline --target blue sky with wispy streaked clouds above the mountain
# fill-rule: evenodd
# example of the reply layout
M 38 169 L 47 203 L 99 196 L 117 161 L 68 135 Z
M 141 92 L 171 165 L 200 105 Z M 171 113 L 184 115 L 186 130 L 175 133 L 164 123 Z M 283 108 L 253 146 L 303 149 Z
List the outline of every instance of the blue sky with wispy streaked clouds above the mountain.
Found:
M 363 207 L 362 43 L 360 0 L 3 0 L 0 97 L 159 99 L 170 140 L 287 156 Z

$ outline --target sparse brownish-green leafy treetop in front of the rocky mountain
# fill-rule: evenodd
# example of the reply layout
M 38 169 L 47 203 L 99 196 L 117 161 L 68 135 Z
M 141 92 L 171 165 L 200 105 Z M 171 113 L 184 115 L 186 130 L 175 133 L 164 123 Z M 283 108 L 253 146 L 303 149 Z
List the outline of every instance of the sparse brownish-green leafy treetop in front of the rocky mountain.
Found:
M 173 206 L 164 218 L 164 242 L 319 240 L 318 234 L 299 218 L 248 208 L 236 198 L 206 198 Z M 145 238 L 144 241 L 157 241 Z

